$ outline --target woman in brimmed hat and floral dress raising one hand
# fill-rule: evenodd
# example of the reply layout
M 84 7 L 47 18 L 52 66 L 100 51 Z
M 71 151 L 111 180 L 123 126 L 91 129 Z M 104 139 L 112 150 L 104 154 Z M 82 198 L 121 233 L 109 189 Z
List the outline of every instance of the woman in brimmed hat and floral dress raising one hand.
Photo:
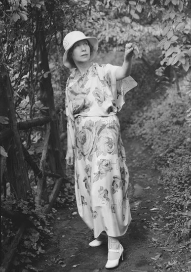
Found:
M 129 76 L 133 47 L 125 46 L 120 67 L 92 63 L 98 40 L 80 31 L 67 34 L 63 45 L 63 63 L 73 69 L 65 93 L 66 161 L 75 163 L 78 213 L 96 238 L 89 245 L 100 246 L 108 236 L 106 268 L 113 268 L 123 255 L 117 237 L 125 234 L 131 222 L 129 174 L 116 113 L 125 102 L 125 93 L 136 86 Z

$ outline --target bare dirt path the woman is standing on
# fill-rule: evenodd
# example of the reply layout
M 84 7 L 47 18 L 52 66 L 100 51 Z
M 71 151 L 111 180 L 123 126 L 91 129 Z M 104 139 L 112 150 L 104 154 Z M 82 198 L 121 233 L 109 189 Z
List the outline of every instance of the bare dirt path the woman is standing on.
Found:
M 150 150 L 145 149 L 140 141 L 128 139 L 125 130 L 121 133 L 132 184 L 132 222 L 127 233 L 119 239 L 124 247 L 124 261 L 120 261 L 113 271 L 154 272 L 155 268 L 162 268 L 161 241 L 165 244 L 168 238 L 160 230 L 163 221 L 159 208 L 162 205 L 163 193 L 157 185 L 159 172 L 155 169 Z M 44 272 L 108 271 L 105 269 L 107 245 L 97 248 L 88 246 L 93 239 L 92 232 L 80 219 L 76 206 L 57 211 L 53 233 L 46 253 L 36 264 L 38 269 Z M 157 243 L 158 239 L 160 243 Z M 155 264 L 157 261 L 158 266 Z

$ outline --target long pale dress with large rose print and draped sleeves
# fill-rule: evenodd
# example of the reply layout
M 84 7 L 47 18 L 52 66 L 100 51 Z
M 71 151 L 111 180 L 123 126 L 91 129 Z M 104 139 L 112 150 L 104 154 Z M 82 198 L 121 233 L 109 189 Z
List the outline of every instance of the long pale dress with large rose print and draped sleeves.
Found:
M 91 63 L 67 80 L 67 131 L 75 151 L 75 192 L 80 217 L 97 238 L 102 231 L 121 236 L 131 222 L 129 173 L 116 113 L 137 83 L 116 81 L 118 66 Z

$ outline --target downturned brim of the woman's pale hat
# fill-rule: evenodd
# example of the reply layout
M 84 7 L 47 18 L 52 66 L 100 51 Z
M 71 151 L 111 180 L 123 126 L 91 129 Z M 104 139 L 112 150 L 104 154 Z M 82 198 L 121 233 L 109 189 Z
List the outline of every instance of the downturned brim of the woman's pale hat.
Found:
M 88 40 L 89 43 L 92 45 L 93 50 L 92 50 L 91 58 L 90 58 L 90 60 L 92 60 L 92 59 L 95 57 L 96 52 L 97 52 L 97 50 L 98 50 L 98 44 L 99 44 L 99 43 L 98 43 L 98 39 L 97 39 L 96 37 L 85 37 L 85 38 L 82 39 L 82 40 Z M 79 42 L 79 41 L 81 41 L 81 39 L 78 40 L 78 41 L 76 41 L 76 42 Z M 75 44 L 75 43 L 74 43 L 74 44 Z M 74 44 L 73 44 L 73 45 L 74 45 Z M 63 64 L 64 64 L 67 68 L 69 68 L 69 69 L 76 68 L 76 66 L 74 66 L 74 65 L 68 60 L 68 52 L 69 52 L 70 48 L 72 48 L 73 45 L 71 45 L 71 46 L 68 48 L 68 50 L 65 51 L 65 53 L 64 53 L 64 55 L 63 55 Z

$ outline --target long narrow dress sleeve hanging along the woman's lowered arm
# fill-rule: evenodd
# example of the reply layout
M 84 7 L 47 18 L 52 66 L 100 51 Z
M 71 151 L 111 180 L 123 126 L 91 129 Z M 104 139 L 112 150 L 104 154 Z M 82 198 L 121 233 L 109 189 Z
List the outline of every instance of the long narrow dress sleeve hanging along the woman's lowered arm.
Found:
M 71 137 L 71 142 L 73 149 L 75 148 L 75 118 L 72 113 L 72 101 L 71 95 L 69 93 L 69 79 L 66 83 L 66 91 L 65 91 L 65 110 L 66 110 L 66 119 L 67 119 L 67 133 Z

